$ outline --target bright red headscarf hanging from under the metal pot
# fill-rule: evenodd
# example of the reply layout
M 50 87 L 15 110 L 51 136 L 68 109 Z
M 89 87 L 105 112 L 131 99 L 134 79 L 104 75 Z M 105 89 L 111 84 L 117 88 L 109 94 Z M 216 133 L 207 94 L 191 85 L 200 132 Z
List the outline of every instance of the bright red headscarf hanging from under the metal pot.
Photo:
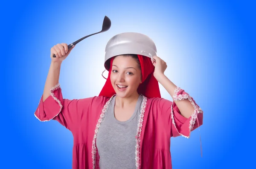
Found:
M 99 96 L 105 96 L 105 97 L 112 97 L 114 94 L 116 94 L 115 90 L 113 89 L 113 86 L 111 84 L 110 80 L 110 74 L 112 70 L 112 63 L 113 58 L 110 60 L 110 68 L 108 71 L 108 78 L 105 83 L 105 85 L 102 88 L 102 91 L 100 92 Z M 138 58 L 140 60 L 140 67 L 141 67 L 141 73 L 142 73 L 142 83 L 140 83 L 138 87 L 138 93 L 144 95 L 145 97 L 152 98 L 152 97 L 160 97 L 160 89 L 158 85 L 157 79 L 154 77 L 154 65 L 151 62 L 151 58 L 139 55 Z

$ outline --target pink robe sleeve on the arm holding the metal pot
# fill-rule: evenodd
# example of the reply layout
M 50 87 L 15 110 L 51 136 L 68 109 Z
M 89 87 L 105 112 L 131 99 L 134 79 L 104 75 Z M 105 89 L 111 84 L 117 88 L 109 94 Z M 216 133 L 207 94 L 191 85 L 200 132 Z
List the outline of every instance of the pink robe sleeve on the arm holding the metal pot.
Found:
M 180 87 L 175 89 L 173 98 L 174 100 L 188 99 L 194 107 L 194 112 L 189 118 L 183 117 L 174 101 L 171 102 L 163 99 L 161 106 L 164 118 L 163 121 L 169 119 L 166 126 L 170 128 L 171 137 L 182 135 L 183 137 L 189 138 L 190 133 L 203 124 L 203 111 L 198 104 L 195 103 L 193 97 Z

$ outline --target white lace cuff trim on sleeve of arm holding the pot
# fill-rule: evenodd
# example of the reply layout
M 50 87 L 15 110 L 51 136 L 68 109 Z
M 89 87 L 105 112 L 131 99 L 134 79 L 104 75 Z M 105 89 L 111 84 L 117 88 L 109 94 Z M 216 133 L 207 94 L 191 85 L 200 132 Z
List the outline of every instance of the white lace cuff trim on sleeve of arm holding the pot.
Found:
M 191 116 L 190 123 L 189 123 L 189 136 L 182 135 L 182 134 L 180 134 L 180 133 L 178 132 L 178 129 L 177 129 L 177 127 L 176 127 L 176 125 L 175 125 L 175 121 L 174 121 L 173 109 L 172 109 L 172 112 L 171 112 L 172 123 L 173 123 L 173 125 L 175 126 L 175 128 L 176 128 L 177 132 L 179 133 L 179 135 L 182 135 L 183 137 L 189 138 L 189 137 L 190 137 L 190 132 L 191 132 L 191 130 L 192 130 L 193 127 L 194 127 L 195 120 L 196 120 L 196 118 L 197 118 L 197 114 L 198 114 L 198 113 L 203 113 L 203 111 L 202 111 L 202 109 L 201 109 L 198 105 L 195 104 L 195 102 L 192 100 L 191 96 L 189 96 L 189 95 L 177 95 L 178 92 L 180 92 L 180 90 L 182 90 L 180 87 L 176 87 L 176 88 L 175 88 L 175 92 L 174 92 L 174 95 L 173 95 L 173 99 L 174 99 L 174 100 L 182 100 L 182 99 L 184 100 L 184 99 L 188 99 L 188 100 L 190 101 L 190 103 L 193 105 L 194 109 L 195 109 L 194 112 L 193 112 L 193 114 L 192 114 L 192 116 Z M 173 106 L 173 103 L 172 103 L 172 106 Z

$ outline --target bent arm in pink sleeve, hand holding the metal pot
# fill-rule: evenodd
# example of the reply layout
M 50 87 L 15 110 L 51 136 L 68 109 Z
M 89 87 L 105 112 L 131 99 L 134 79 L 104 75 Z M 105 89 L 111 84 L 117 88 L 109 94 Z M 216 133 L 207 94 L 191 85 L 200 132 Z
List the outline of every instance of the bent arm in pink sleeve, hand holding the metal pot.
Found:
M 182 135 L 189 138 L 190 132 L 203 124 L 203 111 L 188 93 L 177 87 L 165 76 L 166 62 L 157 56 L 153 58 L 156 60 L 156 62 L 152 60 L 155 66 L 154 77 L 174 100 L 173 102 L 165 99 L 160 101 L 164 118 L 171 119 L 167 123 L 171 129 L 171 136 Z

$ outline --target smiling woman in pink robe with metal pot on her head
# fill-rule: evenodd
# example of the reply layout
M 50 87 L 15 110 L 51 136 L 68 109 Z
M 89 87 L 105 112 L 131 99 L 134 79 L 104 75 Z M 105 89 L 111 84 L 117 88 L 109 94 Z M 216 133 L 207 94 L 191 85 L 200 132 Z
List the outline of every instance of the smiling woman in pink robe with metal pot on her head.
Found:
M 203 111 L 165 76 L 166 63 L 155 55 L 151 39 L 138 33 L 112 37 L 105 53 L 108 78 L 99 96 L 68 100 L 58 80 L 72 49 L 66 43 L 52 47 L 35 116 L 57 120 L 73 133 L 73 169 L 171 169 L 170 138 L 189 138 L 202 125 Z M 174 102 L 161 98 L 158 83 Z

